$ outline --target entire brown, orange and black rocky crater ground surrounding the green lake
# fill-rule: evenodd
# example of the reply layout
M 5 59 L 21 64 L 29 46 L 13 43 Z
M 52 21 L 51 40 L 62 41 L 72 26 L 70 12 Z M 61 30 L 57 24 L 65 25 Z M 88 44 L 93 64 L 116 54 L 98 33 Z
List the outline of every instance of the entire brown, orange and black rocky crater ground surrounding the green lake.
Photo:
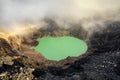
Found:
M 52 24 L 29 36 L 0 38 L 1 80 L 119 80 L 120 22 L 113 21 L 87 39 L 88 33 L 77 28 L 61 29 Z M 3 35 L 3 34 L 2 34 Z M 88 51 L 60 61 L 47 60 L 34 50 L 37 38 L 73 36 L 84 40 Z M 17 42 L 20 39 L 20 43 Z

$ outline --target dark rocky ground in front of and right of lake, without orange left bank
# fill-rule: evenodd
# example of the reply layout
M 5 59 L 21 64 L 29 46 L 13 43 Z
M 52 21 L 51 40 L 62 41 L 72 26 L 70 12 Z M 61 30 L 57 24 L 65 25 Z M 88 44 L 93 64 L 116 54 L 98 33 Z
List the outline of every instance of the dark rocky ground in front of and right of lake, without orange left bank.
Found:
M 120 22 L 106 26 L 92 35 L 87 54 L 60 62 L 38 62 L 0 42 L 0 80 L 120 80 Z

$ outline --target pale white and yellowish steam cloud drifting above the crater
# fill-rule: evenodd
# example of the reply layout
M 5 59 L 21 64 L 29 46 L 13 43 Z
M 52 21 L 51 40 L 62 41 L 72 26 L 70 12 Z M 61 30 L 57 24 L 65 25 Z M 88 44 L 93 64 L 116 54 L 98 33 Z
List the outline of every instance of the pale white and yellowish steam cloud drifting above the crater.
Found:
M 0 0 L 0 26 L 1 30 L 19 29 L 16 25 L 24 23 L 43 27 L 43 19 L 49 17 L 63 28 L 81 23 L 93 30 L 107 20 L 119 20 L 119 9 L 120 0 Z

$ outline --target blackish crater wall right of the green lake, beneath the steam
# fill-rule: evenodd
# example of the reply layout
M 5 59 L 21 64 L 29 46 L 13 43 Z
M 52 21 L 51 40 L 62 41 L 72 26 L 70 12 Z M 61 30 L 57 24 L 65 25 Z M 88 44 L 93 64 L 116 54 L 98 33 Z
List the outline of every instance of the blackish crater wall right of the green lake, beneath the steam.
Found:
M 106 25 L 106 29 L 94 33 L 90 39 L 90 48 L 96 49 L 96 52 L 120 50 L 120 22 L 111 22 Z

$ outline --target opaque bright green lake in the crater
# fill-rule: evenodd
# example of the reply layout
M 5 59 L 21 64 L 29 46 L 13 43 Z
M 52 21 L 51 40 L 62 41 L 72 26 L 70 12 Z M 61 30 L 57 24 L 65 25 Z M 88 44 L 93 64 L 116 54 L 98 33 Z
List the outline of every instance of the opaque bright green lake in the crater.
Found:
M 79 56 L 84 54 L 88 47 L 86 43 L 78 38 L 64 37 L 43 37 L 39 38 L 39 45 L 35 50 L 40 52 L 49 60 L 59 61 L 68 56 Z

